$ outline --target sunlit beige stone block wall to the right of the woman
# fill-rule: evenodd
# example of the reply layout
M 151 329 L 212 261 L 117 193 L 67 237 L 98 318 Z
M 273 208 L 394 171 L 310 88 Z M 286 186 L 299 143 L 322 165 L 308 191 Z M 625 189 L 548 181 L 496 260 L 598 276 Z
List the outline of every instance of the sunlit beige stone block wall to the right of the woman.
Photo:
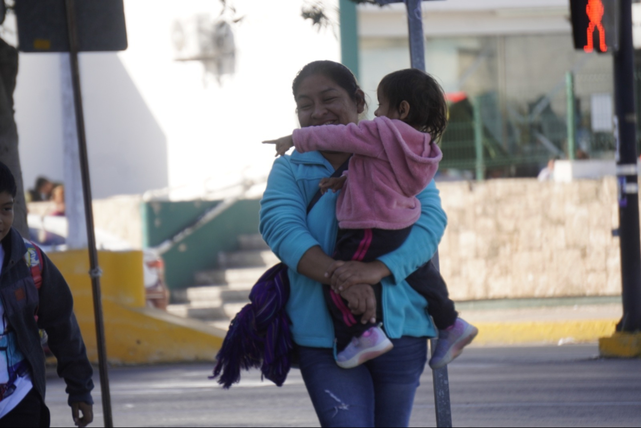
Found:
M 438 183 L 441 272 L 455 300 L 619 295 L 614 177 Z

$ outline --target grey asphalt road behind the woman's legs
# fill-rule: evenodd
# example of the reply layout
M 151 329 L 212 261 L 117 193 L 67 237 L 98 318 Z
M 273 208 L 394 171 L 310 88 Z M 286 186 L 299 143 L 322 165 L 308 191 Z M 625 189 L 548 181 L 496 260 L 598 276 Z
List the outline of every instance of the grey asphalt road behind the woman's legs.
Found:
M 638 427 L 641 359 L 597 358 L 597 345 L 472 347 L 449 366 L 455 427 Z M 250 373 L 224 391 L 212 365 L 110 369 L 116 427 L 317 427 L 298 370 L 283 388 Z M 97 379 L 97 371 L 95 374 Z M 97 381 L 96 381 L 97 383 Z M 52 372 L 52 427 L 72 427 L 64 383 Z M 96 422 L 102 427 L 100 388 Z M 412 427 L 435 426 L 431 371 L 423 374 Z

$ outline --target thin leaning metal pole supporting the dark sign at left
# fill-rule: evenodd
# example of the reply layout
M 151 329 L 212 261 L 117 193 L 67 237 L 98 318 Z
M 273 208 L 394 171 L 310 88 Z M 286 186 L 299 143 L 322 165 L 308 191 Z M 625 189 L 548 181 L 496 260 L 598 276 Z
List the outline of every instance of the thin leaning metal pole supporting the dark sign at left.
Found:
M 103 399 L 104 426 L 113 427 L 112 403 L 109 392 L 109 377 L 107 373 L 107 352 L 104 344 L 103 306 L 100 293 L 100 276 L 98 253 L 96 251 L 96 236 L 94 235 L 94 211 L 92 209 L 91 182 L 89 179 L 89 161 L 87 157 L 87 137 L 85 135 L 85 118 L 80 92 L 80 70 L 78 67 L 78 35 L 76 33 L 76 10 L 74 0 L 65 0 L 67 8 L 67 31 L 69 34 L 69 59 L 71 62 L 71 79 L 74 89 L 74 106 L 76 110 L 76 127 L 78 128 L 78 152 L 80 155 L 80 170 L 85 199 L 85 220 L 87 222 L 87 241 L 92 292 L 94 295 L 94 317 L 96 319 L 96 342 L 98 345 L 98 365 L 100 373 L 100 388 Z

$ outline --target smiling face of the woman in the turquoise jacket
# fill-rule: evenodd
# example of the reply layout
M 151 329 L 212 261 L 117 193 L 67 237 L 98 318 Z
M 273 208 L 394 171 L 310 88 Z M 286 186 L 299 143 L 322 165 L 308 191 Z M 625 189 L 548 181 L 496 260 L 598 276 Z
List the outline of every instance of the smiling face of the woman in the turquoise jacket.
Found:
M 322 74 L 312 74 L 298 86 L 296 112 L 302 128 L 357 123 L 363 110 L 364 102 L 354 101 L 344 88 Z

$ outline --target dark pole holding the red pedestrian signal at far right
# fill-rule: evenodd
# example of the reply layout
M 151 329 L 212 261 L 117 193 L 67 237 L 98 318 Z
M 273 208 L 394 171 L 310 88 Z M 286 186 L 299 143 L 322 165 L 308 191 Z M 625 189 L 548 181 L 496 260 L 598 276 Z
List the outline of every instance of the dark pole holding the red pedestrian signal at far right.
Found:
M 615 138 L 619 179 L 619 231 L 623 317 L 617 331 L 641 330 L 637 137 L 632 47 L 632 1 L 621 0 L 619 51 L 614 54 Z

